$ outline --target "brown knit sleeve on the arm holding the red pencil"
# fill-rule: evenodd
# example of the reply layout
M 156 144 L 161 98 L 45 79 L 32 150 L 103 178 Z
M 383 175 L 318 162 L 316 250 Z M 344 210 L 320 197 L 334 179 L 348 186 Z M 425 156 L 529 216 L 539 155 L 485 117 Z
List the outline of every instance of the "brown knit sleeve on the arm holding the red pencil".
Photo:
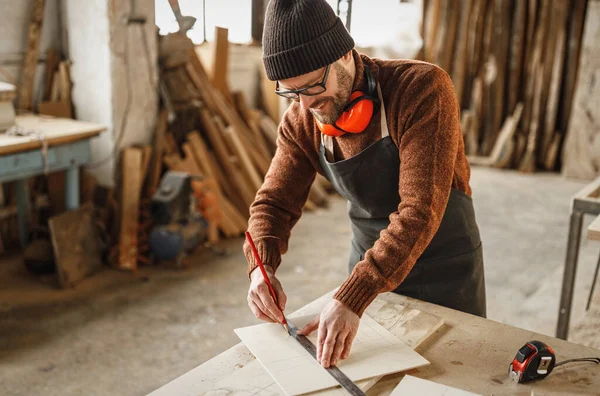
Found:
M 281 255 L 287 251 L 290 232 L 300 219 L 316 177 L 315 167 L 305 149 L 292 138 L 292 119 L 288 111 L 279 125 L 275 155 L 250 206 L 248 221 L 248 231 L 263 264 L 274 271 L 281 263 Z M 247 241 L 243 251 L 249 276 L 258 263 Z

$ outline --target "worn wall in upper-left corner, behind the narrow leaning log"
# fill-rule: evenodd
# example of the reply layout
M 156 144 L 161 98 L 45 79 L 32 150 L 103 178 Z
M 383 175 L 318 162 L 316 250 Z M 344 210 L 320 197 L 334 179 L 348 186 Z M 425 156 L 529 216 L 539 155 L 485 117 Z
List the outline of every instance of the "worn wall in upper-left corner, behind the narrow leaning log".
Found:
M 33 16 L 34 0 L 0 0 L 0 81 L 19 85 L 27 50 L 29 24 Z M 36 73 L 36 93 L 44 75 L 46 51 L 60 51 L 60 0 L 46 0 L 40 41 L 40 56 Z M 38 101 L 38 96 L 35 98 Z

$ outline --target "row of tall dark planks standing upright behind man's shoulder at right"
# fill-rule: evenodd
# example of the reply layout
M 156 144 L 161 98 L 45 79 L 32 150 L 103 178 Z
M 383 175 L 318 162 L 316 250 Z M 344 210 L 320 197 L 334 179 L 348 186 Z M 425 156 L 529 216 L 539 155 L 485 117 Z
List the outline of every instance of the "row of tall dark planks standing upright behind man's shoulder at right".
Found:
M 422 58 L 446 70 L 474 164 L 557 170 L 587 0 L 424 0 Z

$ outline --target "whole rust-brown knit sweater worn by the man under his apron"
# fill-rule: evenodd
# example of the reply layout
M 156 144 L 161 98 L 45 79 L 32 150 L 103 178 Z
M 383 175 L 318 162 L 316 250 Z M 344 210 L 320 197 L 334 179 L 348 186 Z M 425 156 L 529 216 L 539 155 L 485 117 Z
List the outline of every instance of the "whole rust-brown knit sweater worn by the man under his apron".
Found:
M 389 133 L 400 151 L 398 211 L 335 298 L 359 316 L 377 294 L 398 287 L 437 231 L 451 187 L 471 195 L 454 86 L 439 67 L 414 60 L 371 59 L 353 51 L 353 90 L 366 89 L 364 64 L 381 85 Z M 335 160 L 352 157 L 381 138 L 379 110 L 359 134 L 334 138 Z M 274 270 L 287 251 L 319 164 L 320 131 L 308 110 L 294 103 L 278 130 L 277 151 L 250 208 L 248 230 Z M 369 188 L 364 186 L 363 188 Z M 244 244 L 248 273 L 257 264 Z

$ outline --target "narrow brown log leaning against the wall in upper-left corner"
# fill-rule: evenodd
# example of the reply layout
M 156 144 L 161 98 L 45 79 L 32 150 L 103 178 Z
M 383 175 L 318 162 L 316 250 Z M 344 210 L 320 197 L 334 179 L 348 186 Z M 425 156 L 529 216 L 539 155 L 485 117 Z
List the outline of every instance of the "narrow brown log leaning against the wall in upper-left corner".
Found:
M 27 36 L 27 50 L 23 62 L 23 77 L 19 89 L 19 108 L 33 110 L 35 72 L 39 58 L 42 24 L 44 21 L 44 0 L 35 0 L 33 14 Z

